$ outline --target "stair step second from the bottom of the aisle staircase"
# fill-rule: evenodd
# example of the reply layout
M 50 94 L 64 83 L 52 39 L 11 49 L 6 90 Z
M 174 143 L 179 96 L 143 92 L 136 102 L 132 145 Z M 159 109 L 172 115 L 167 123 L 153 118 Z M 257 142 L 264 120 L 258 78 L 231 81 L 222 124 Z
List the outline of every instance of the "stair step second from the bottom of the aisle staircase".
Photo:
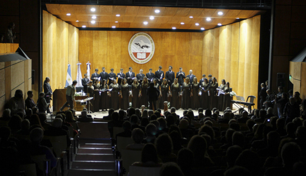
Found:
M 106 169 L 115 170 L 114 161 L 73 161 L 71 169 Z

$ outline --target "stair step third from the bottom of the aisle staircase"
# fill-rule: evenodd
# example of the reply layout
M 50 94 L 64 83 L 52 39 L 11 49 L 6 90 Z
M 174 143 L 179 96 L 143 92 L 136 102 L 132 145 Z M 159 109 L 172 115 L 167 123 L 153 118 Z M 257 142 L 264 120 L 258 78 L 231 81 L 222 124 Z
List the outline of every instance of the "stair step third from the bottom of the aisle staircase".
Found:
M 113 154 L 76 154 L 75 161 L 114 161 Z

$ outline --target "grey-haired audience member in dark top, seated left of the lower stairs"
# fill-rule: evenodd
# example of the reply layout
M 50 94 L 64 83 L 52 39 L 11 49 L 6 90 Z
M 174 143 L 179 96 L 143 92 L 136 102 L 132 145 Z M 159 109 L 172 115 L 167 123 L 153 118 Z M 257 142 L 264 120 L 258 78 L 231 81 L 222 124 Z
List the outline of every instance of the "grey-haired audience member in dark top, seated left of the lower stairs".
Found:
M 50 166 L 52 168 L 56 166 L 56 158 L 48 147 L 40 145 L 43 139 L 43 133 L 41 128 L 34 128 L 30 132 L 30 139 L 32 142 L 31 155 L 46 155 L 47 160 L 51 161 Z

